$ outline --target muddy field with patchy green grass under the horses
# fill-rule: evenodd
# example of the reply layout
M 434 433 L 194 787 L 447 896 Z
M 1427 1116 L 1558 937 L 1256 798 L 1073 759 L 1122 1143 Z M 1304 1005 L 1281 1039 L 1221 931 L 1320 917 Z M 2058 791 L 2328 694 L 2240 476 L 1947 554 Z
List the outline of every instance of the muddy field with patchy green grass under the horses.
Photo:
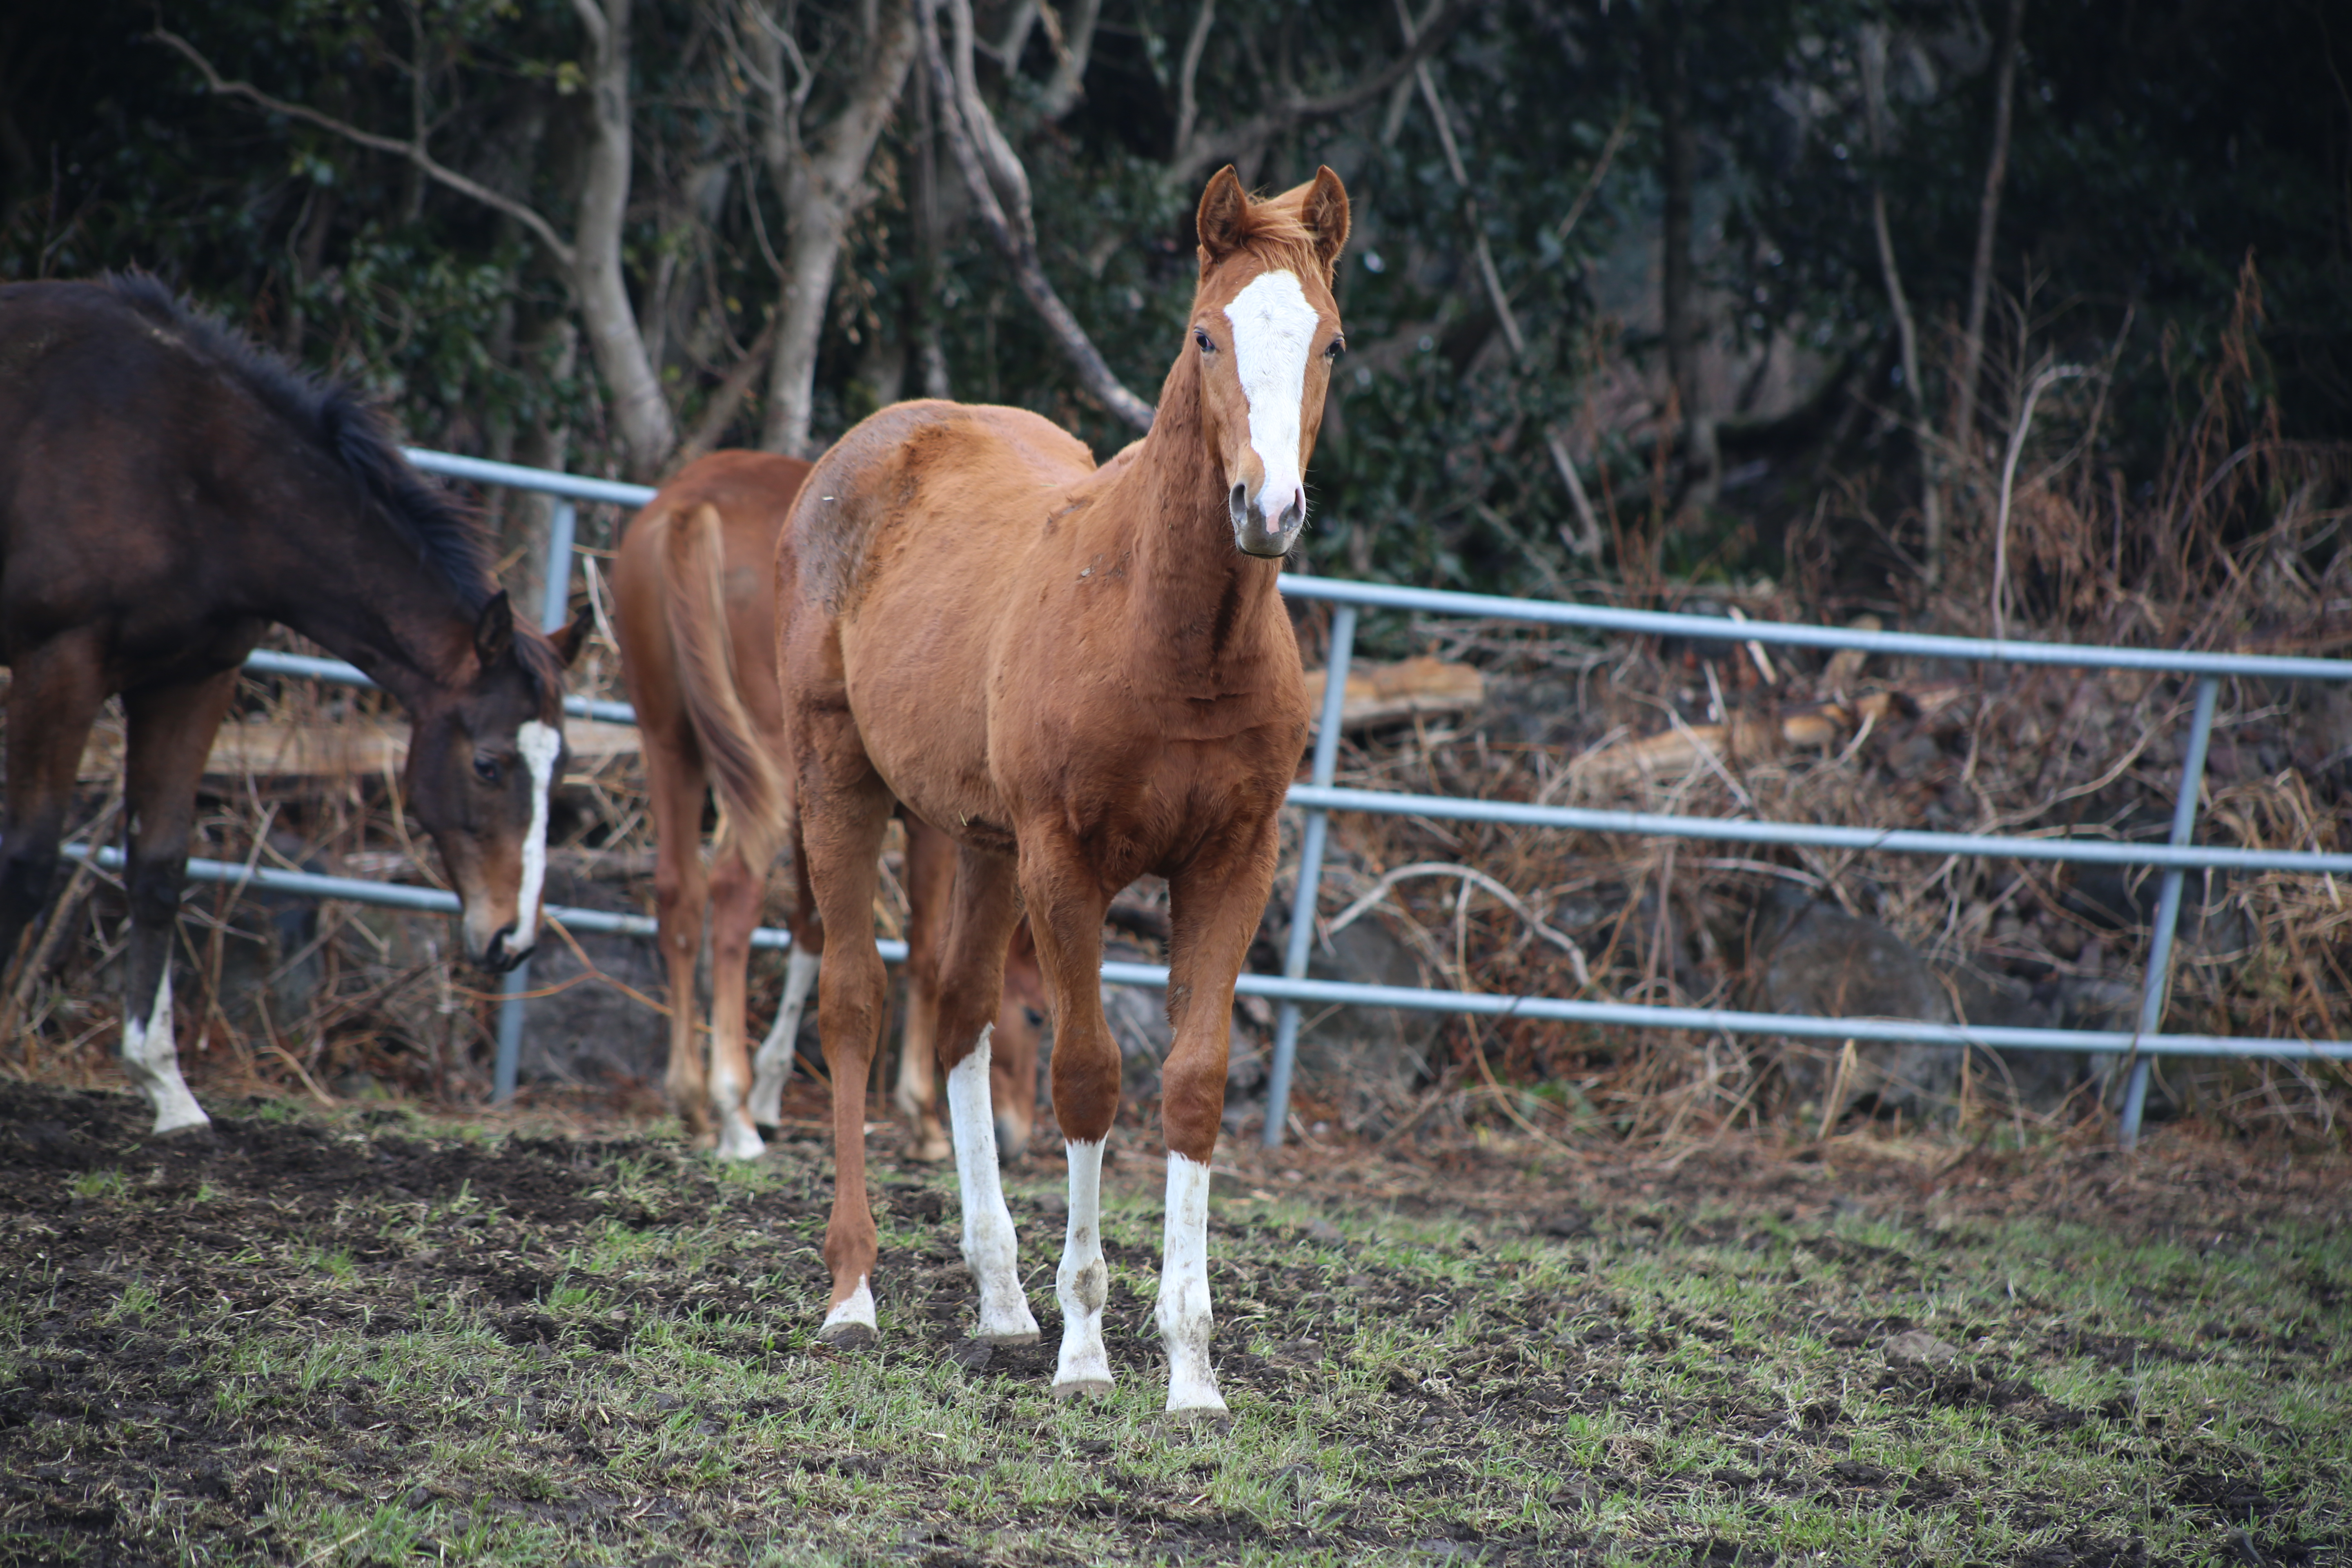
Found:
M 2352 1561 L 2340 1154 L 1228 1150 L 1200 1432 L 1148 1150 L 1120 1392 L 1056 1406 L 1058 1161 L 1014 1180 L 1047 1342 L 990 1356 L 948 1173 L 877 1135 L 884 1345 L 840 1356 L 814 1138 L 216 1110 L 0 1084 L 5 1561 Z

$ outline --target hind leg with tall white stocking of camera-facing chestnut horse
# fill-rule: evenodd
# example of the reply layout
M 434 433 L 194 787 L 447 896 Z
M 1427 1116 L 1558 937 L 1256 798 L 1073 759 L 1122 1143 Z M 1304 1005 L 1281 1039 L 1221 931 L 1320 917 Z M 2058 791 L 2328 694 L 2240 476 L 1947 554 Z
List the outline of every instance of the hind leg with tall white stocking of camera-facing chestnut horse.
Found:
M 988 1093 L 988 1037 L 1004 994 L 1004 940 L 1018 919 L 1014 886 L 1014 865 L 1004 856 L 976 849 L 957 853 L 955 922 L 938 966 L 936 1048 L 948 1077 L 955 1185 L 964 1199 L 964 1265 L 981 1288 L 981 1326 L 974 1338 L 1033 1345 L 1037 1316 L 1021 1291 L 1021 1244 L 1004 1206 L 997 1121 Z

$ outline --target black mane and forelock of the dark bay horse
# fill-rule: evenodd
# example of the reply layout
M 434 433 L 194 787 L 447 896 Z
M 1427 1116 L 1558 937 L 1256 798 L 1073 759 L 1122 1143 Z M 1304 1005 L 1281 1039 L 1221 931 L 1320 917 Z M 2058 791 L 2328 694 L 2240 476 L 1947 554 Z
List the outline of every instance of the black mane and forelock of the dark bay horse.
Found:
M 428 484 L 400 454 L 383 414 L 353 386 L 287 364 L 235 327 L 195 310 L 146 273 L 108 273 L 103 287 L 151 322 L 179 334 L 198 355 L 242 381 L 266 409 L 334 458 L 383 517 L 459 597 L 480 616 L 499 590 L 489 538 L 480 520 L 447 491 Z M 541 637 L 515 637 L 515 656 L 541 696 L 562 691 L 562 661 Z

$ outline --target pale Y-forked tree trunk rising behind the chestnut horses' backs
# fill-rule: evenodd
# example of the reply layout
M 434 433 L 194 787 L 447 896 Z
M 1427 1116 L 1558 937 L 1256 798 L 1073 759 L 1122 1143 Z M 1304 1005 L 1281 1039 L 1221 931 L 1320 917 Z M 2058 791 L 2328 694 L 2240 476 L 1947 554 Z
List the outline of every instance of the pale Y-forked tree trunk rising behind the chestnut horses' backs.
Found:
M 767 418 L 760 433 L 760 444 L 769 451 L 809 456 L 816 348 L 826 331 L 833 268 L 849 219 L 873 195 L 866 165 L 898 106 L 913 61 L 913 0 L 884 0 L 875 7 L 873 31 L 866 35 L 842 108 L 811 141 L 802 134 L 797 99 L 786 89 L 781 47 L 771 38 L 764 45 L 762 68 L 771 71 L 764 150 L 786 214 L 783 299 L 776 303 L 776 357 L 769 364 Z

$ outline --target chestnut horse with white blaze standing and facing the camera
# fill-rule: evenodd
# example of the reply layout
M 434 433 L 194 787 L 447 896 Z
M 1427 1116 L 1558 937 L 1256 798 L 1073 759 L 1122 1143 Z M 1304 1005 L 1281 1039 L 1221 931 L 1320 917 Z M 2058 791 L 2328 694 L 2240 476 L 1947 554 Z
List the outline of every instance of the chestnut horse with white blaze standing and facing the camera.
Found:
M 1223 1410 L 1209 1368 L 1209 1157 L 1232 983 L 1308 731 L 1277 574 L 1305 524 L 1301 475 L 1341 353 L 1331 277 L 1348 195 L 1322 169 L 1254 202 L 1223 169 L 1197 223 L 1200 284 L 1150 435 L 1096 468 L 1021 409 L 896 404 L 816 463 L 776 545 L 786 731 L 833 933 L 818 980 L 837 1152 L 821 1333 L 875 1333 L 854 1086 L 882 1020 L 868 907 L 896 799 L 957 842 L 938 1060 L 983 1340 L 1037 1338 L 988 1114 L 988 1023 L 1021 905 L 1051 994 L 1070 1157 L 1056 1394 L 1110 1389 L 1101 1161 L 1120 1053 L 1096 973 L 1103 912 L 1138 875 L 1169 882 L 1157 1321 L 1176 1413 Z

